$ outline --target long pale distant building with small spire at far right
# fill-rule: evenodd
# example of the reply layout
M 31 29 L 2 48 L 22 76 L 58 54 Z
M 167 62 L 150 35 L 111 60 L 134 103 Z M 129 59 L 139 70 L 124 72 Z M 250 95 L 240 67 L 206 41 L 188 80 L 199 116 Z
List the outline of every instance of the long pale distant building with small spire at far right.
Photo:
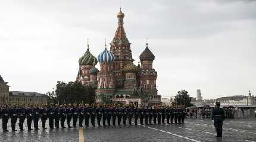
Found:
M 253 106 L 256 105 L 255 97 L 251 95 L 251 91 L 249 91 L 248 96 L 245 95 L 236 95 L 236 96 L 226 96 L 217 98 L 216 101 L 219 101 L 221 105 L 232 105 L 232 106 Z

